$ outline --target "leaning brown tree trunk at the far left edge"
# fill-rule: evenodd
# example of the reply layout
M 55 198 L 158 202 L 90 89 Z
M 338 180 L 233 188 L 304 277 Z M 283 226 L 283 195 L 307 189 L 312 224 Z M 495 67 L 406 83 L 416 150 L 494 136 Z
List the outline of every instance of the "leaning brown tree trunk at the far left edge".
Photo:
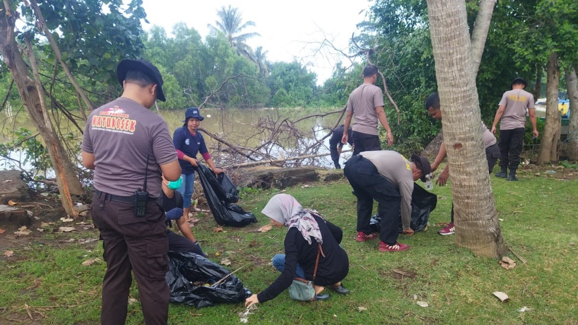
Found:
M 2 12 L 0 12 L 0 54 L 2 54 L 2 59 L 13 76 L 14 83 L 16 84 L 16 88 L 18 89 L 18 93 L 28 115 L 45 141 L 54 173 L 56 174 L 58 190 L 60 191 L 61 197 L 81 195 L 84 193 L 84 190 L 76 176 L 72 162 L 62 147 L 60 139 L 58 139 L 53 128 L 51 128 L 50 119 L 45 119 L 43 116 L 38 90 L 34 81 L 29 77 L 27 65 L 18 50 L 16 39 L 14 39 L 16 36 L 14 33 L 15 18 L 9 10 L 2 10 Z M 67 207 L 64 199 L 63 206 L 67 214 L 72 216 L 77 215 L 73 209 L 71 211 L 71 209 Z

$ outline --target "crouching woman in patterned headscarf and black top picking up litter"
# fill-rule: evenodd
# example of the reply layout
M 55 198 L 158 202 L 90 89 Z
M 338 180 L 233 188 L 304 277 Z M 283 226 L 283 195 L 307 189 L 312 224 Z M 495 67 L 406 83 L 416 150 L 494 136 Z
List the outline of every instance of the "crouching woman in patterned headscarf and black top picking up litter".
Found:
M 321 294 L 326 286 L 341 294 L 349 293 L 341 284 L 349 272 L 349 259 L 339 246 L 343 231 L 338 226 L 323 219 L 317 211 L 303 209 L 301 204 L 288 194 L 273 196 L 261 212 L 271 218 L 274 226 L 288 227 L 285 254 L 273 257 L 273 267 L 281 272 L 279 277 L 265 291 L 247 298 L 246 307 L 279 296 L 296 277 L 313 280 L 316 299 L 329 298 L 328 294 Z M 321 244 L 321 252 L 317 274 L 313 279 L 319 252 L 317 243 Z

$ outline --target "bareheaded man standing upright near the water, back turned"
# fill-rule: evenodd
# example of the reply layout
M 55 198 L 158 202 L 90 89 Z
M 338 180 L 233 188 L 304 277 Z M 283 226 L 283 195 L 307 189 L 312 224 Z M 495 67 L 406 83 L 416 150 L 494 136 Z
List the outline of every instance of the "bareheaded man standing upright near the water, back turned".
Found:
M 377 87 L 377 67 L 375 65 L 365 66 L 363 69 L 363 84 L 354 89 L 349 95 L 346 107 L 345 126 L 341 143 L 349 141 L 349 130 L 351 117 L 355 115 L 353 121 L 353 155 L 362 151 L 381 150 L 379 142 L 379 131 L 377 121 L 381 122 L 387 131 L 387 144 L 394 143 L 394 136 L 391 133 L 390 124 L 387 122 L 386 112 L 383 110 L 383 91 Z

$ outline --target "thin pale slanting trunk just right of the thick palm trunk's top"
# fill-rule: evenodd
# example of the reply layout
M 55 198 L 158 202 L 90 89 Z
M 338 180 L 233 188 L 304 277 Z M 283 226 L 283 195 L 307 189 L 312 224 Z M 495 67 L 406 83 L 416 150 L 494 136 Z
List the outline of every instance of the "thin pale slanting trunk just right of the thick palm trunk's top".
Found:
M 477 70 L 480 68 L 481 55 L 484 54 L 484 47 L 486 46 L 486 39 L 488 38 L 488 30 L 490 29 L 490 22 L 492 21 L 492 13 L 494 13 L 494 5 L 496 0 L 481 0 L 480 10 L 477 12 L 476 24 L 472 31 L 472 73 L 473 77 L 477 76 Z

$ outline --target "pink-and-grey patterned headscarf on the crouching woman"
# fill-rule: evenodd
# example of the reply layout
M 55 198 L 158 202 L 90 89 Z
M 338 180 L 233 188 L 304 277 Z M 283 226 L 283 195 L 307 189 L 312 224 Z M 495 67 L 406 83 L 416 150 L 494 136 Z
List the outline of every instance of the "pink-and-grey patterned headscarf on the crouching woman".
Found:
M 297 228 L 309 245 L 311 245 L 311 237 L 323 244 L 319 225 L 313 215 L 317 215 L 320 218 L 323 218 L 323 216 L 315 210 L 303 210 L 301 204 L 295 200 L 295 197 L 288 194 L 277 194 L 271 197 L 271 200 L 261 212 L 288 228 Z

